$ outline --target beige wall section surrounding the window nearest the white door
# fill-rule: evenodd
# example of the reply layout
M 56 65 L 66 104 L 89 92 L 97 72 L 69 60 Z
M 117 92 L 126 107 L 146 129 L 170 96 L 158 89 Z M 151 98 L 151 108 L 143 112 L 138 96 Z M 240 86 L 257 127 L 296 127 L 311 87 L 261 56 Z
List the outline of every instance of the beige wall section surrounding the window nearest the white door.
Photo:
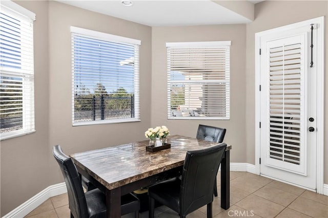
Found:
M 198 124 L 227 128 L 224 141 L 233 146 L 232 162 L 246 162 L 245 140 L 245 54 L 246 25 L 207 25 L 193 27 L 154 27 L 152 31 L 152 126 L 166 125 L 172 135 L 195 137 Z M 166 42 L 231 40 L 231 110 L 230 120 L 167 119 Z

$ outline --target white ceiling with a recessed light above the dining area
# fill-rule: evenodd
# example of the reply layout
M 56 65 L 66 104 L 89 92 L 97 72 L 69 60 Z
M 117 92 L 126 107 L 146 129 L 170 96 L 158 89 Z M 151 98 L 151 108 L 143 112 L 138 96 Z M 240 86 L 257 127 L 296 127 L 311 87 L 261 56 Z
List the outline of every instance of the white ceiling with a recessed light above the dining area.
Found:
M 210 0 L 134 0 L 133 5 L 130 7 L 124 6 L 120 0 L 59 0 L 57 2 L 130 20 L 151 27 L 245 24 L 251 22 L 250 19 Z M 250 2 L 255 4 L 261 1 Z

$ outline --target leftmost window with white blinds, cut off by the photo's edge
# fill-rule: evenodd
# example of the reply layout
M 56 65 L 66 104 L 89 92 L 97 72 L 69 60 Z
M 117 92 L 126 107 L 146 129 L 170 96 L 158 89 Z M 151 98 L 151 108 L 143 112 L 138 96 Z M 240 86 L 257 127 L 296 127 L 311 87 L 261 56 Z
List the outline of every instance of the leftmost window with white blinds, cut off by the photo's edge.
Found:
M 1 2 L 0 13 L 0 136 L 3 140 L 35 131 L 35 14 L 10 1 Z

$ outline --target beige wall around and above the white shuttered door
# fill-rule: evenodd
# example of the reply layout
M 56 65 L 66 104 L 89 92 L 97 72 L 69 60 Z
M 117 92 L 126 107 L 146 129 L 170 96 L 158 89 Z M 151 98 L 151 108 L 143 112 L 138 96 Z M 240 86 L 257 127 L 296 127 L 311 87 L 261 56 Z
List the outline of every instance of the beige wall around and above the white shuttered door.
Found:
M 324 183 L 328 183 L 328 76 L 327 1 L 264 1 L 255 5 L 255 20 L 247 24 L 246 56 L 246 144 L 247 163 L 255 164 L 255 33 L 299 21 L 325 16 L 325 139 Z

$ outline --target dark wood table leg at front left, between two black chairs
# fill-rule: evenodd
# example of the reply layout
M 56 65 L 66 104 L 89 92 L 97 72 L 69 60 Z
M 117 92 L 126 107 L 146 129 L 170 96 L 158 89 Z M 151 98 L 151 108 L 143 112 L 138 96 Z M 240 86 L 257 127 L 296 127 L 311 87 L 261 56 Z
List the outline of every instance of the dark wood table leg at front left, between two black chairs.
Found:
M 106 192 L 107 217 L 121 217 L 121 189 L 120 187 Z

